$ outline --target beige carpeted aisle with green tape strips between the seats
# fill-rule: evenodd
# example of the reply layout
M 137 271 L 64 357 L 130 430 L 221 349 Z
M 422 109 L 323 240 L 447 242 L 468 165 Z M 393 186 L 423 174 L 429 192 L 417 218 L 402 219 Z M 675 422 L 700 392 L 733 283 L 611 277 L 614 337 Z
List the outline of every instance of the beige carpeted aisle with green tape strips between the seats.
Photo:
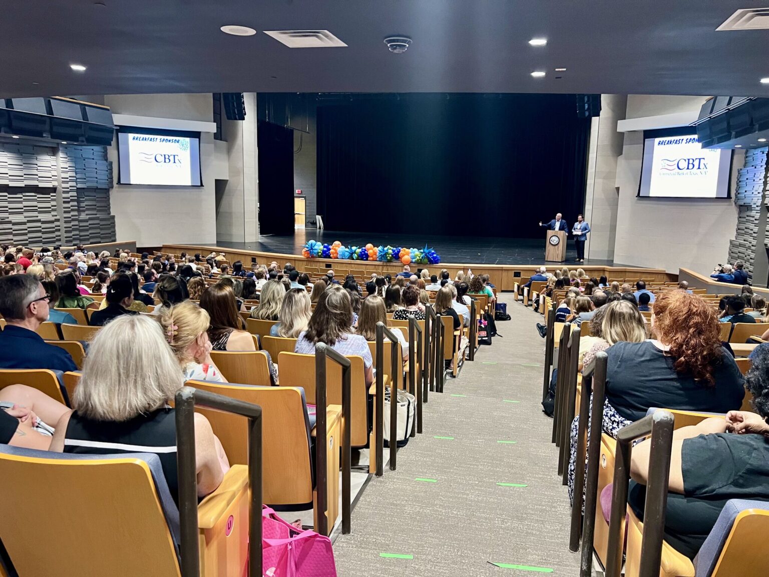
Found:
M 335 542 L 339 575 L 578 574 L 552 421 L 540 405 L 542 317 L 515 302 L 508 313 L 497 324 L 504 338 L 430 396 L 424 432 L 398 452 L 398 470 L 371 480 L 352 533 Z

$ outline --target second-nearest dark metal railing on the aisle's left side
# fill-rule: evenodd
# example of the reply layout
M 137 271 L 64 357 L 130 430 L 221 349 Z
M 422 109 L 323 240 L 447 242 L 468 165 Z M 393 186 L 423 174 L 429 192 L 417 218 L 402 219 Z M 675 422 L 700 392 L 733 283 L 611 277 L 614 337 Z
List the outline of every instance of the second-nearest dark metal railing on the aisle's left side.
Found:
M 315 345 L 315 467 L 318 471 L 326 470 L 326 445 L 328 439 L 326 435 L 326 359 L 331 359 L 341 367 L 341 532 L 347 535 L 351 530 L 350 512 L 351 512 L 351 487 L 350 473 L 352 465 L 351 442 L 351 370 L 352 363 L 350 359 L 341 355 L 339 352 L 331 349 L 324 342 L 318 342 Z M 322 404 L 321 404 L 322 401 Z M 322 428 L 321 428 L 322 427 Z M 323 469 L 321 469 L 321 465 Z M 318 507 L 318 532 L 321 535 L 328 535 L 328 521 L 326 517 L 326 487 L 323 487 L 321 493 L 321 483 L 319 482 L 325 475 L 315 475 L 318 479 L 316 503 Z M 336 519 L 330 519 L 331 525 Z M 323 530 L 321 530 L 323 529 Z

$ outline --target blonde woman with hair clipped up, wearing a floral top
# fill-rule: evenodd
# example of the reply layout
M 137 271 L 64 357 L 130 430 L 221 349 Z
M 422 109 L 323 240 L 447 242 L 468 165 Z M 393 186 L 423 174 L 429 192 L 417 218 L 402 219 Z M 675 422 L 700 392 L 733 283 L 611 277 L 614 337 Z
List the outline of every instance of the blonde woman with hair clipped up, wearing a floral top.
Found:
M 157 316 L 165 340 L 176 355 L 184 380 L 227 382 L 211 360 L 208 312 L 191 301 L 180 302 L 164 309 Z

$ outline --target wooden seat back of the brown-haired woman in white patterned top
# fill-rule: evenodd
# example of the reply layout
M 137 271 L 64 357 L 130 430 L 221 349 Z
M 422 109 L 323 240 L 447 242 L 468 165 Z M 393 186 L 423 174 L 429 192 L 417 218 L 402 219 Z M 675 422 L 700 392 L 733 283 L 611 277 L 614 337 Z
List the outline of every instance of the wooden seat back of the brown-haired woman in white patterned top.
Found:
M 278 355 L 281 387 L 305 389 L 307 402 L 315 405 L 315 355 L 301 355 L 296 352 L 281 352 Z M 348 356 L 352 363 L 351 372 L 351 442 L 361 447 L 368 442 L 368 390 L 365 381 L 363 359 Z M 341 368 L 328 359 L 326 362 L 326 402 L 341 405 Z M 318 409 L 319 410 L 319 409 Z

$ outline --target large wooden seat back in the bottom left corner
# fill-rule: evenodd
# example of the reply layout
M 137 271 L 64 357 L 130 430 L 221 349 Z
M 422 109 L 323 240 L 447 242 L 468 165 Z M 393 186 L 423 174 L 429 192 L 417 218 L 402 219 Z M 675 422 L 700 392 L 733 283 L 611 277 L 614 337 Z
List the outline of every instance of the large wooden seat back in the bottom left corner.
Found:
M 0 445 L 0 494 L 0 540 L 19 575 L 181 575 L 178 510 L 157 455 Z

